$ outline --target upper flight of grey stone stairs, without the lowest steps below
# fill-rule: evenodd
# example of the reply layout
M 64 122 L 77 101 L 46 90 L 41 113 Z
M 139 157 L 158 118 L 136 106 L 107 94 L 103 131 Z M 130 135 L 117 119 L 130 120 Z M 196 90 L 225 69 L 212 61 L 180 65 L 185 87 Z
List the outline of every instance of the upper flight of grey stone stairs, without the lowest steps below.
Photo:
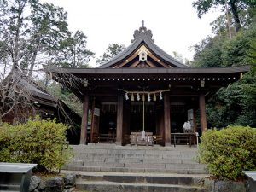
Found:
M 74 157 L 63 170 L 85 172 L 206 173 L 196 162 L 197 148 L 115 144 L 73 145 Z

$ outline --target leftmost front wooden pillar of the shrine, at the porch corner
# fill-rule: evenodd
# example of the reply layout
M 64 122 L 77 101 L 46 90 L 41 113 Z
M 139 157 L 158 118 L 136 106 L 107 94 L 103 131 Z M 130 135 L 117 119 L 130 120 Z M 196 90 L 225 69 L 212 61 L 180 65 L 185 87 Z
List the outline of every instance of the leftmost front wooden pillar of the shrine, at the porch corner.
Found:
M 80 144 L 86 144 L 88 109 L 89 109 L 89 96 L 88 96 L 88 94 L 85 94 L 84 101 L 83 101 L 83 116 L 82 116 L 82 123 L 81 123 Z

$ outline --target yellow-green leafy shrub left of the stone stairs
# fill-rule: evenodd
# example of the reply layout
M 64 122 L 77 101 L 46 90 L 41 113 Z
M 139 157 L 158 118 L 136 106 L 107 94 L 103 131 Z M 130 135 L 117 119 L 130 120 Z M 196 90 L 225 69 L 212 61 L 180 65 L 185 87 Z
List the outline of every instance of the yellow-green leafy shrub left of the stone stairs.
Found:
M 55 120 L 30 119 L 26 124 L 0 127 L 0 161 L 36 163 L 38 169 L 53 171 L 71 157 L 65 131 Z

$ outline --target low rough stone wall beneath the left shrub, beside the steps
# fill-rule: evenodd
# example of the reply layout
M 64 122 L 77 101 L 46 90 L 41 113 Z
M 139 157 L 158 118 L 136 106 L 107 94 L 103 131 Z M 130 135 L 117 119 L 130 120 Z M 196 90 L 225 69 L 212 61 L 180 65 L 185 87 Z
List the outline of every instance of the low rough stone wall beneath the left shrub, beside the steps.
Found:
M 51 177 L 46 180 L 32 176 L 29 192 L 72 192 L 75 188 L 75 181 L 74 174 L 68 174 L 65 177 Z

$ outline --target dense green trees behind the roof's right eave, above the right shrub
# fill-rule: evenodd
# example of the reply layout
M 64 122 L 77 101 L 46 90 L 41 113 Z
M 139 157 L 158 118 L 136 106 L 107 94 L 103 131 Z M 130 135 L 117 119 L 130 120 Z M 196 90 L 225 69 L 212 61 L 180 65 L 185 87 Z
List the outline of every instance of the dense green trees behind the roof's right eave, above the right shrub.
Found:
M 218 90 L 208 102 L 207 119 L 210 127 L 256 126 L 255 42 L 256 25 L 252 23 L 247 29 L 237 32 L 232 39 L 218 32 L 214 38 L 205 39 L 201 44 L 194 46 L 196 51 L 193 64 L 196 67 L 251 65 L 250 71 L 244 74 L 242 79 Z

